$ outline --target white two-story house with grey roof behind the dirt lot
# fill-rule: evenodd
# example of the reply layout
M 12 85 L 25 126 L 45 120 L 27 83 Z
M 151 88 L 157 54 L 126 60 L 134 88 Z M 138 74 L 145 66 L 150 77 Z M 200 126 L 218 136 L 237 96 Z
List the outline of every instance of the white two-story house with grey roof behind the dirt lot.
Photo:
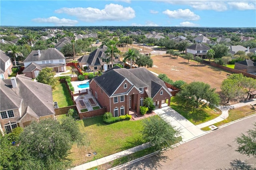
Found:
M 206 58 L 207 51 L 211 49 L 202 43 L 196 43 L 186 48 L 186 53 L 192 53 L 195 56 Z

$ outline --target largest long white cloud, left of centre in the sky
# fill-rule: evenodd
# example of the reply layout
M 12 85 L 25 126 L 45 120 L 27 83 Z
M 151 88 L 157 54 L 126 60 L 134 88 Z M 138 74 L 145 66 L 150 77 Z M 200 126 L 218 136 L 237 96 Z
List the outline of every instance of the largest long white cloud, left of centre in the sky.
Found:
M 85 22 L 94 22 L 99 20 L 124 21 L 135 17 L 135 11 L 131 7 L 124 7 L 118 4 L 107 4 L 104 9 L 98 8 L 60 8 L 56 13 L 66 13 L 76 16 Z

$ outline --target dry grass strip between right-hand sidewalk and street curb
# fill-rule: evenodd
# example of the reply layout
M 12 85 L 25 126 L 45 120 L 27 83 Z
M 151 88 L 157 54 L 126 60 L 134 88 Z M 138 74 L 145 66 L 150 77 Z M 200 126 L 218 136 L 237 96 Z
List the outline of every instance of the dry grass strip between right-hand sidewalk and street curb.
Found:
M 224 121 L 215 123 L 214 125 L 216 127 L 220 127 L 221 125 L 224 125 L 226 123 L 230 123 L 232 121 L 241 119 L 243 117 L 253 115 L 256 113 L 256 110 L 252 109 L 251 106 L 243 106 L 243 107 L 238 107 L 236 109 L 231 109 L 228 111 L 228 118 L 225 119 Z

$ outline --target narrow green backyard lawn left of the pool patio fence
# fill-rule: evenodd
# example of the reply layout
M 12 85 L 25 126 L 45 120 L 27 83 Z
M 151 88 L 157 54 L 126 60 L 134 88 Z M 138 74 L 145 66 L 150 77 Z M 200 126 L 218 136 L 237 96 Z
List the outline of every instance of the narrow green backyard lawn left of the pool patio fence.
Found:
M 55 89 L 52 90 L 52 97 L 53 101 L 58 102 L 59 107 L 67 107 L 73 105 L 73 101 L 66 83 L 59 83 Z

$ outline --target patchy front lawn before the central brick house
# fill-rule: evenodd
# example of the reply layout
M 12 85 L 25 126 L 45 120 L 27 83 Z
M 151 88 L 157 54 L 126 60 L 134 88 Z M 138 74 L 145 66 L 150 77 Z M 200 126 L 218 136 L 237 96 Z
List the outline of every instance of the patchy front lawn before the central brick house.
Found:
M 90 162 L 138 146 L 145 143 L 142 138 L 142 120 L 120 121 L 105 125 L 103 116 L 92 117 L 77 121 L 80 131 L 87 134 L 88 147 L 78 147 L 74 144 L 70 150 L 68 159 L 74 166 Z M 86 154 L 96 152 L 96 155 L 88 157 Z

